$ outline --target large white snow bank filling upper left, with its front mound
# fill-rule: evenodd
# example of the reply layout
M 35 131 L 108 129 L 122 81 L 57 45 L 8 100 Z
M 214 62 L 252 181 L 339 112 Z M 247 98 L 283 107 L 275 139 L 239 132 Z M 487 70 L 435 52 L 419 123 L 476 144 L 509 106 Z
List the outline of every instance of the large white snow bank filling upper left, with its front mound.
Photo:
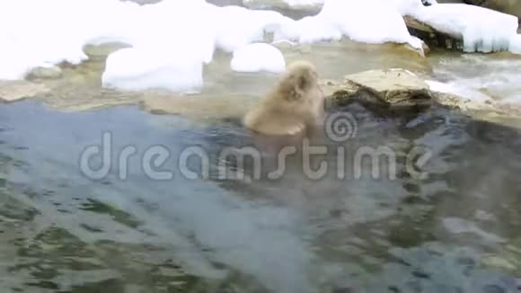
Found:
M 142 6 L 119 0 L 0 1 L 0 26 L 9 28 L 0 31 L 0 79 L 22 79 L 31 68 L 61 62 L 79 64 L 88 58 L 84 45 L 119 41 L 134 49 L 110 56 L 103 84 L 185 91 L 199 86 L 200 68 L 211 62 L 215 49 L 232 52 L 263 40 L 269 27 L 286 19 L 277 12 L 217 7 L 204 0 Z

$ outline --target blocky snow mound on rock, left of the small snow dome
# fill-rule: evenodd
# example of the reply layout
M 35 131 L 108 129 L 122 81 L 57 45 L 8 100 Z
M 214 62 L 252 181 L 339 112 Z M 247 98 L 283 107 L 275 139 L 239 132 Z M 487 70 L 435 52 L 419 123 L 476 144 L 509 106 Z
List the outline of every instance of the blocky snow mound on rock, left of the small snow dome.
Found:
M 102 84 L 122 91 L 167 89 L 195 93 L 203 84 L 202 70 L 201 59 L 188 52 L 119 49 L 107 58 Z

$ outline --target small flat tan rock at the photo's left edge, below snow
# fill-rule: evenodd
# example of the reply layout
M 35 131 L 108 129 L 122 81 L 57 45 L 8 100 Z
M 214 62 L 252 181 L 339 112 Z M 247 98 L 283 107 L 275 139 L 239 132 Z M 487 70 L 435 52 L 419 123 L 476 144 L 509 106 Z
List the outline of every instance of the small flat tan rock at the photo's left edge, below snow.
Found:
M 36 95 L 49 93 L 49 88 L 43 84 L 28 81 L 0 81 L 0 101 L 13 102 Z

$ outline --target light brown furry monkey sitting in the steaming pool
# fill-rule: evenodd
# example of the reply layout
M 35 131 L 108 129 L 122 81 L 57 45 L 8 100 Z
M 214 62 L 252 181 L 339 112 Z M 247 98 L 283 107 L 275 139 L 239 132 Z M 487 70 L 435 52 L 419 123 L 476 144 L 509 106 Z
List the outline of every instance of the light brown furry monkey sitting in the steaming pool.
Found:
M 316 68 L 307 61 L 287 67 L 260 104 L 244 117 L 248 129 L 270 136 L 296 135 L 320 124 L 324 96 Z

